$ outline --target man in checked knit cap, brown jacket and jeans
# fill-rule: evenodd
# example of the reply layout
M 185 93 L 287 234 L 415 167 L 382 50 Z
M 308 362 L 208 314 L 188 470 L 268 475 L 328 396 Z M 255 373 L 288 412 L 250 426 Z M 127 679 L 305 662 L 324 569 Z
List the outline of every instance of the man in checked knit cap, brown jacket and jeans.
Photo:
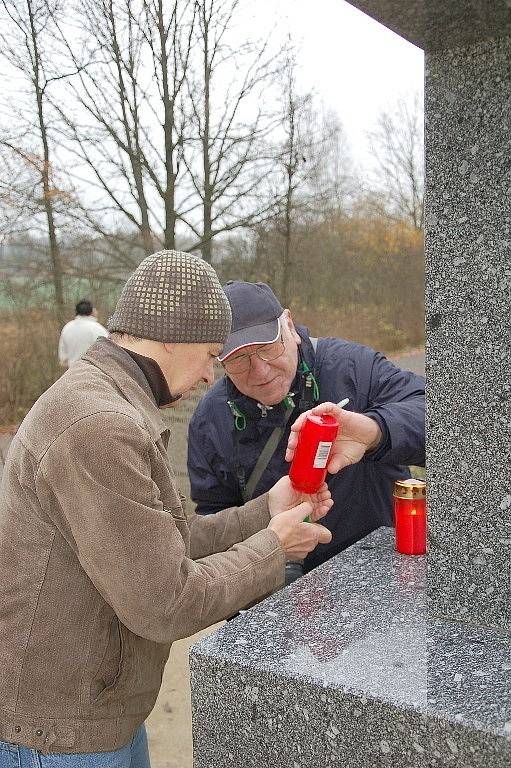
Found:
M 215 271 L 162 251 L 83 359 L 39 398 L 0 498 L 0 768 L 147 768 L 143 722 L 173 640 L 279 588 L 330 533 L 287 478 L 186 517 L 159 407 L 213 381 L 231 324 Z M 4 762 L 2 762 L 4 761 Z M 7 762 L 5 762 L 7 761 Z

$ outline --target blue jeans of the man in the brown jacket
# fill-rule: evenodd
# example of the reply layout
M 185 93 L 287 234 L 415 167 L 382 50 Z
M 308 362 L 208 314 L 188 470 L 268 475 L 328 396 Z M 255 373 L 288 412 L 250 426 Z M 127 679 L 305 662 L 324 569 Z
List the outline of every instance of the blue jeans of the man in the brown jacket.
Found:
M 0 768 L 151 768 L 145 725 L 126 746 L 114 752 L 81 752 L 45 755 L 36 749 L 0 741 Z

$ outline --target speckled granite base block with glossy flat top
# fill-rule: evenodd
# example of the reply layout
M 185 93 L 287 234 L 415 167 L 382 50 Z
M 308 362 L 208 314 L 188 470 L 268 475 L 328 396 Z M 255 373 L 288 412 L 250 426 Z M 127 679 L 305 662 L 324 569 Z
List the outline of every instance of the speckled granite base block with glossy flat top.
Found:
M 379 529 L 191 652 L 196 768 L 509 768 L 511 639 L 430 621 Z

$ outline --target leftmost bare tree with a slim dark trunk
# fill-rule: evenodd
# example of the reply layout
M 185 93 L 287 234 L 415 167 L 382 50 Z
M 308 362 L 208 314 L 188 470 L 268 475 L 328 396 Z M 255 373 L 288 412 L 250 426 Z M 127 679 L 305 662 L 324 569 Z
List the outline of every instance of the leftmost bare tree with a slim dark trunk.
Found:
M 65 319 L 63 267 L 58 242 L 56 206 L 66 193 L 59 188 L 53 163 L 51 137 L 50 90 L 55 82 L 69 76 L 54 69 L 51 49 L 52 19 L 61 13 L 59 0 L 36 2 L 1 0 L 0 57 L 13 67 L 27 87 L 28 112 L 15 109 L 10 103 L 12 128 L 4 127 L 0 140 L 3 161 L 16 169 L 9 186 L 2 183 L 14 211 L 12 221 L 19 222 L 24 214 L 44 213 L 49 245 L 55 307 L 59 323 Z M 17 98 L 20 94 L 16 94 Z M 14 115 L 16 119 L 13 119 Z M 12 222 L 11 222 L 12 223 Z

